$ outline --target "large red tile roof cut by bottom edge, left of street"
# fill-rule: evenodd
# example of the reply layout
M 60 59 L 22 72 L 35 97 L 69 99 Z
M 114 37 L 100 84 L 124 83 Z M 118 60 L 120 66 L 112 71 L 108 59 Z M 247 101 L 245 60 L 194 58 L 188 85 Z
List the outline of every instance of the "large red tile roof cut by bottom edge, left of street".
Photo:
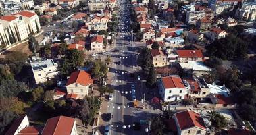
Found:
M 68 135 L 71 134 L 75 119 L 72 117 L 58 116 L 47 120 L 41 135 Z

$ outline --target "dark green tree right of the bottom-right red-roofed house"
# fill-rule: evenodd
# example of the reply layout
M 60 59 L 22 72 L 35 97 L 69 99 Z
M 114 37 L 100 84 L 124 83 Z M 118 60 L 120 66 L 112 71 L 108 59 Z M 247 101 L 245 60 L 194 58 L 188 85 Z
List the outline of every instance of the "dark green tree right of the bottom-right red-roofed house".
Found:
M 226 126 L 228 125 L 227 120 L 225 119 L 225 117 L 220 115 L 220 113 L 218 113 L 217 111 L 207 111 L 207 113 L 211 115 L 211 126 L 215 127 L 217 130 L 226 128 Z

